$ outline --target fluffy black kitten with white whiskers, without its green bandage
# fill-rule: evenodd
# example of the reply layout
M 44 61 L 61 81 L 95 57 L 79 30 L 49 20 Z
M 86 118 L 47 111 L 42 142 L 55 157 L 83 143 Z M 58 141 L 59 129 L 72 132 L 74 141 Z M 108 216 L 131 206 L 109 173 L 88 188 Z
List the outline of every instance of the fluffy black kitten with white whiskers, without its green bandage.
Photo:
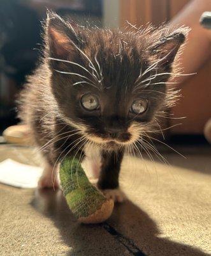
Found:
M 187 29 L 84 28 L 55 13 L 44 29 L 43 58 L 20 97 L 20 117 L 45 159 L 39 185 L 58 186 L 57 166 L 78 155 L 100 171 L 99 189 L 120 202 L 122 157 L 170 104 L 166 82 Z

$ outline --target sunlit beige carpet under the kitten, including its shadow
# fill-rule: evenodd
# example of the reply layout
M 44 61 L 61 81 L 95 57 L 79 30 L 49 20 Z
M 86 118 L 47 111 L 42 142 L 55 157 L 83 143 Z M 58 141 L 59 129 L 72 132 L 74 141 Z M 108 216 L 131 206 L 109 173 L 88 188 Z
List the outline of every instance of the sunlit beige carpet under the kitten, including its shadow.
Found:
M 187 152 L 166 153 L 170 166 L 126 157 L 129 201 L 103 225 L 78 224 L 61 191 L 0 184 L 0 255 L 210 255 L 211 152 Z M 0 161 L 8 157 L 31 163 L 33 154 L 1 145 Z

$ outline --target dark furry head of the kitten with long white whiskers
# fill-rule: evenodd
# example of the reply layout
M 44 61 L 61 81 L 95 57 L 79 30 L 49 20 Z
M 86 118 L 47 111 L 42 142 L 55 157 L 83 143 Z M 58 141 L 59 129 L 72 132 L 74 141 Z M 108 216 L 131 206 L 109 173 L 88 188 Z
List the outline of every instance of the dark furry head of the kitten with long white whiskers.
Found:
M 186 32 L 90 29 L 50 13 L 46 58 L 62 118 L 108 150 L 140 140 L 168 103 L 166 81 Z

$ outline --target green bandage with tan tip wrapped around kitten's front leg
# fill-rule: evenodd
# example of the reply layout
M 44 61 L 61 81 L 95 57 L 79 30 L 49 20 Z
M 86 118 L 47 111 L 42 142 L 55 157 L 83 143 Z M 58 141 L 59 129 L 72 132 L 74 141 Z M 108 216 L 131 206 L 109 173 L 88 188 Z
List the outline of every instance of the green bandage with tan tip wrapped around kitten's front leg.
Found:
M 93 186 L 77 159 L 66 157 L 60 166 L 61 186 L 69 209 L 82 223 L 101 223 L 113 211 L 113 200 Z

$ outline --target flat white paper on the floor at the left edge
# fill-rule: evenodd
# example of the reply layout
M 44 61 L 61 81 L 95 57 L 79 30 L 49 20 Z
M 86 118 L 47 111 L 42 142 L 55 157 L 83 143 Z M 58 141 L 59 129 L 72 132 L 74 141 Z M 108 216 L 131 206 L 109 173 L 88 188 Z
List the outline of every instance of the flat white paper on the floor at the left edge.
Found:
M 0 163 L 0 182 L 18 188 L 36 188 L 42 168 L 6 159 Z

